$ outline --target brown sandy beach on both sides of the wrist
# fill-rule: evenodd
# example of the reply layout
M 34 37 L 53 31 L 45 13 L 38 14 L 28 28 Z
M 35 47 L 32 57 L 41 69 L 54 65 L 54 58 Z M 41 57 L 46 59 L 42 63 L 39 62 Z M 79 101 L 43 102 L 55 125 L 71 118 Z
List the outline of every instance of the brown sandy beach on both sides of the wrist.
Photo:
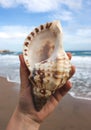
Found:
M 18 89 L 16 89 L 18 88 Z M 19 84 L 0 77 L 0 130 L 6 125 L 18 102 Z M 90 130 L 91 100 L 75 99 L 67 94 L 40 130 Z

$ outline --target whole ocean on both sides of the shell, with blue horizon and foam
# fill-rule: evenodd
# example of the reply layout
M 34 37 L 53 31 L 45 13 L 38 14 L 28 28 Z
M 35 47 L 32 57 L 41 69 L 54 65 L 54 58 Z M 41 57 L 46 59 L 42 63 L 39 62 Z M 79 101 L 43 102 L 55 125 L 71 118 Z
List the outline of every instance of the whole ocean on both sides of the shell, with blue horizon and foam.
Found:
M 76 73 L 71 78 L 73 84 L 70 94 L 75 98 L 91 100 L 91 51 L 69 51 L 73 57 L 71 63 L 76 66 Z M 19 57 L 21 52 L 0 54 L 0 76 L 8 81 L 20 83 Z

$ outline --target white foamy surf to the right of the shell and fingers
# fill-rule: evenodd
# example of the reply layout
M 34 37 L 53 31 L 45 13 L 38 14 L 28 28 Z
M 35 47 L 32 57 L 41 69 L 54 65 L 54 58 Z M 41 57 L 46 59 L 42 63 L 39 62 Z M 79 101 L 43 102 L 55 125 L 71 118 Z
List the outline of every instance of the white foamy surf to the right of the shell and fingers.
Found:
M 76 73 L 71 79 L 70 94 L 75 98 L 91 99 L 91 57 L 73 56 L 72 64 L 76 66 Z

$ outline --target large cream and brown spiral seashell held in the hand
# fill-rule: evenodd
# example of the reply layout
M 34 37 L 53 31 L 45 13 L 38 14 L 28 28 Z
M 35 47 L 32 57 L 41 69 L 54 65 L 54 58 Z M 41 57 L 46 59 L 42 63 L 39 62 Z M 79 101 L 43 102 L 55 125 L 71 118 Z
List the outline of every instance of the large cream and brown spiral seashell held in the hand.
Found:
M 30 71 L 35 108 L 39 111 L 70 77 L 71 63 L 62 46 L 60 22 L 35 28 L 25 39 L 23 56 Z

